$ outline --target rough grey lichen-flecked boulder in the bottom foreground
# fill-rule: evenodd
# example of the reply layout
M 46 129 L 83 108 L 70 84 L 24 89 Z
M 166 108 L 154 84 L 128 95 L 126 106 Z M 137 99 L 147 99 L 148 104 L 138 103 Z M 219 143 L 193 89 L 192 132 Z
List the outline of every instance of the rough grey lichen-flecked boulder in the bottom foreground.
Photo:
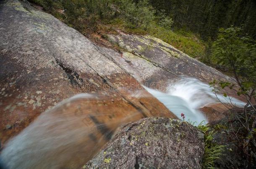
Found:
M 146 118 L 122 126 L 83 168 L 201 168 L 204 135 L 169 118 Z

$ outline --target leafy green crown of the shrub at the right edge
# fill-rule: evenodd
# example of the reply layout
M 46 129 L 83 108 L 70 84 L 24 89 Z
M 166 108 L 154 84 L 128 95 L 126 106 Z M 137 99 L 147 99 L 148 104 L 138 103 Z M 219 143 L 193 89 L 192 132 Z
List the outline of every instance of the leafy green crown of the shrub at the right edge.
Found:
M 225 66 L 235 76 L 241 78 L 242 91 L 256 85 L 256 42 L 250 37 L 241 37 L 241 28 L 219 29 L 218 38 L 213 43 L 212 61 Z M 227 82 L 222 88 L 229 86 Z

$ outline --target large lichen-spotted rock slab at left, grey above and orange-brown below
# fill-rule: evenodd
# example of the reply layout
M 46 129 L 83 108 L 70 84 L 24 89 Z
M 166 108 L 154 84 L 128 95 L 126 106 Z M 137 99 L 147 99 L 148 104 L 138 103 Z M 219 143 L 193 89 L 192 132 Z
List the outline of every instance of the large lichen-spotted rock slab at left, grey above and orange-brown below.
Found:
M 23 1 L 1 1 L 0 16 L 2 142 L 41 112 L 76 93 L 99 93 L 145 116 L 163 113 L 176 118 L 112 59 L 112 55 L 118 55 L 114 50 L 95 45 Z M 137 90 L 147 97 L 132 97 Z M 12 128 L 6 130 L 8 124 Z

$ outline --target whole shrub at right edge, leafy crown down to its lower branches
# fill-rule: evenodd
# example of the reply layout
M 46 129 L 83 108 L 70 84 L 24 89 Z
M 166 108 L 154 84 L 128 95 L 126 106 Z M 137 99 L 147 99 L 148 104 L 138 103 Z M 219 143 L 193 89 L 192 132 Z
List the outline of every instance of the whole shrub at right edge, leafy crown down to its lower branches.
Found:
M 242 30 L 242 28 L 233 26 L 227 29 L 221 28 L 217 40 L 213 43 L 213 60 L 232 73 L 236 84 L 214 80 L 210 86 L 215 95 L 222 93 L 223 96 L 230 98 L 233 94 L 223 91 L 224 88 L 228 87 L 236 92 L 238 97 L 246 100 L 244 117 L 237 116 L 240 124 L 246 129 L 246 136 L 242 141 L 243 153 L 250 159 L 251 150 L 249 147 L 251 144 L 255 145 L 253 134 L 256 128 L 256 107 L 253 105 L 253 101 L 256 99 L 256 41 L 251 37 L 241 36 Z M 229 106 L 235 107 L 236 105 L 230 103 Z M 252 122 L 250 122 L 251 119 L 253 119 Z

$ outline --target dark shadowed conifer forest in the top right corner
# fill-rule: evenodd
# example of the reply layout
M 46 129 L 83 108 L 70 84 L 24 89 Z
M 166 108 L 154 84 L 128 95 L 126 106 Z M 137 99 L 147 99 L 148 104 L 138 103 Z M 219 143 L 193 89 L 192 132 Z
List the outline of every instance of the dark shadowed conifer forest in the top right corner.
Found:
M 244 25 L 243 35 L 256 39 L 255 0 L 150 0 L 165 10 L 176 28 L 199 33 L 204 40 L 215 39 L 219 28 Z

